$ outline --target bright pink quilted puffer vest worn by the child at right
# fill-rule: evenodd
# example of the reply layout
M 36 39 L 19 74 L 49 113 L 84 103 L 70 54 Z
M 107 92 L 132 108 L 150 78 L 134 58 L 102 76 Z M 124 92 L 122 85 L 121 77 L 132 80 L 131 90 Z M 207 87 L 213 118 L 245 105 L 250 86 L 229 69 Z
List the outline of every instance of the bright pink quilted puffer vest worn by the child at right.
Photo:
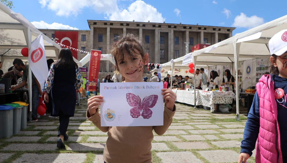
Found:
M 260 128 L 255 152 L 255 162 L 257 163 L 283 162 L 277 104 L 273 91 L 274 81 L 270 82 L 270 78 L 270 75 L 263 75 L 259 79 L 259 83 L 256 84 L 260 113 Z

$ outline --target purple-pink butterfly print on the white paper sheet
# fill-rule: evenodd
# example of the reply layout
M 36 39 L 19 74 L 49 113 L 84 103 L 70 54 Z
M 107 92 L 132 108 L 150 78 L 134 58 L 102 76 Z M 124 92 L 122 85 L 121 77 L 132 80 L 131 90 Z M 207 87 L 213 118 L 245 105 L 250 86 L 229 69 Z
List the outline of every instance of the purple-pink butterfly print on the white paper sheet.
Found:
M 150 110 L 150 108 L 153 108 L 156 105 L 156 101 L 158 101 L 158 95 L 146 96 L 141 102 L 139 96 L 136 96 L 133 93 L 127 93 L 127 103 L 129 106 L 133 107 L 129 111 L 133 118 L 142 116 L 144 119 L 149 119 L 152 117 L 152 110 Z

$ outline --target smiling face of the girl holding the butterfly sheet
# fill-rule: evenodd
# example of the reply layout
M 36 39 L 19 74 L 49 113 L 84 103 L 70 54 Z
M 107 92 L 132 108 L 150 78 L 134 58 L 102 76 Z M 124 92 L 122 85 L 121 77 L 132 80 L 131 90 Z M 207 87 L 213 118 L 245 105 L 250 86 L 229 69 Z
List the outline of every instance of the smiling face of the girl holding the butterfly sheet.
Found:
M 124 52 L 124 58 L 118 58 L 117 64 L 126 82 L 143 82 L 144 62 L 137 49 L 133 49 L 132 57 Z

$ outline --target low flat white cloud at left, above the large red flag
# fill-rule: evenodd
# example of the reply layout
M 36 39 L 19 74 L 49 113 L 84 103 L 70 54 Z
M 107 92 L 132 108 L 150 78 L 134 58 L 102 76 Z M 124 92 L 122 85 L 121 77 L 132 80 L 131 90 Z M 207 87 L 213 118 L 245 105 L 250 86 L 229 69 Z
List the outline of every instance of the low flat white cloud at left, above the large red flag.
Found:
M 39 29 L 69 29 L 69 30 L 79 30 L 78 28 L 76 27 L 71 27 L 71 26 L 68 26 L 68 25 L 64 25 L 64 24 L 59 24 L 59 23 L 52 23 L 52 24 L 48 24 L 44 21 L 40 21 L 40 22 L 31 22 L 36 28 L 39 28 Z

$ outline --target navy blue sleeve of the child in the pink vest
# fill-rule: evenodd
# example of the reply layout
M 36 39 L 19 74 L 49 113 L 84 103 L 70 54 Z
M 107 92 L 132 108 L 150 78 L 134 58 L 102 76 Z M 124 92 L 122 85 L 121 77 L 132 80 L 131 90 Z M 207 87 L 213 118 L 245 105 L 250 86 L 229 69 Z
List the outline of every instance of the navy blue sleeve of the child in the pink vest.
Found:
M 259 134 L 259 120 L 259 96 L 256 92 L 245 124 L 240 153 L 252 155 Z

